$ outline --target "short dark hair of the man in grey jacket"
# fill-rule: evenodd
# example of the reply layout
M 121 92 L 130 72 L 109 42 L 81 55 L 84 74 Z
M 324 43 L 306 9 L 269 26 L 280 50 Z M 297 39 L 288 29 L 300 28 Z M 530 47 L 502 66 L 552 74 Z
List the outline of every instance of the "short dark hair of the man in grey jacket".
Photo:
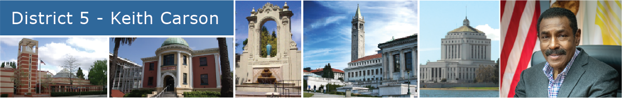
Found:
M 540 15 L 540 17 L 538 18 L 538 24 L 536 25 L 537 30 L 538 30 L 537 31 L 538 37 L 540 37 L 540 22 L 542 22 L 542 19 L 561 18 L 564 16 L 567 17 L 568 20 L 570 21 L 570 27 L 572 27 L 572 36 L 577 34 L 577 30 L 578 30 L 577 16 L 575 16 L 575 13 L 573 13 L 572 11 L 568 9 L 564 9 L 560 7 L 552 7 L 542 12 L 542 15 Z

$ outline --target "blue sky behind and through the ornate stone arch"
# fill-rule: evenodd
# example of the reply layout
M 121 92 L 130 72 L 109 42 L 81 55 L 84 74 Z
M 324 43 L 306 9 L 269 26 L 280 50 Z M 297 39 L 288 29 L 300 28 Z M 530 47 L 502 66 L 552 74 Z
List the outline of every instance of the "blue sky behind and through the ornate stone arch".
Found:
M 267 2 L 270 2 L 271 4 L 276 4 L 281 8 L 283 8 L 285 2 L 287 2 L 289 10 L 294 13 L 294 16 L 292 16 L 291 19 L 291 31 L 293 34 L 292 40 L 298 43 L 298 50 L 302 50 L 302 30 L 300 27 L 300 25 L 302 25 L 302 22 L 300 22 L 302 18 L 302 12 L 300 11 L 301 1 L 235 1 L 235 36 L 237 40 L 236 43 L 239 43 L 239 46 L 236 48 L 236 53 L 242 53 L 242 42 L 244 42 L 244 40 L 248 38 L 248 20 L 246 20 L 246 17 L 251 16 L 251 11 L 253 11 L 253 7 L 255 8 L 255 11 L 257 11 L 258 9 L 261 9 L 261 7 L 264 6 L 264 4 L 266 4 Z M 271 33 L 273 30 L 276 30 L 276 22 L 274 21 L 266 22 L 264 25 Z

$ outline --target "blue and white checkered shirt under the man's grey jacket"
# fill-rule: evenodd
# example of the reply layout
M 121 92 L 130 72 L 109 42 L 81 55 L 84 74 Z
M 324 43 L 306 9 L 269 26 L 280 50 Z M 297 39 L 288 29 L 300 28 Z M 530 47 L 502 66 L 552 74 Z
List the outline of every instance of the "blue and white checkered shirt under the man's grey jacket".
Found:
M 557 98 L 557 92 L 559 92 L 559 88 L 562 87 L 562 82 L 564 82 L 564 78 L 566 78 L 566 74 L 568 74 L 568 70 L 570 69 L 572 62 L 574 62 L 575 58 L 577 58 L 577 55 L 579 55 L 579 52 L 580 51 L 575 48 L 575 55 L 572 56 L 572 59 L 570 59 L 570 62 L 566 65 L 564 71 L 557 74 L 557 79 L 553 79 L 553 68 L 549 65 L 549 62 L 547 62 L 544 65 L 544 68 L 542 68 L 544 74 L 546 74 L 549 78 L 549 98 Z

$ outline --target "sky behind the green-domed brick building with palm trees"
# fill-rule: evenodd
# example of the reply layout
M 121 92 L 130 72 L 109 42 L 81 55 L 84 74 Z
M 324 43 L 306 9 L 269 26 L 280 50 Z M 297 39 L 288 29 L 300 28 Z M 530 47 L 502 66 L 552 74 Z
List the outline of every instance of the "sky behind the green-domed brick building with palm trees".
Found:
M 156 56 L 157 48 L 162 47 L 162 43 L 166 38 L 136 38 L 131 46 L 119 46 L 119 57 L 128 58 L 134 63 L 143 66 L 141 58 Z M 186 40 L 192 50 L 203 50 L 207 48 L 218 48 L 218 40 L 216 38 L 183 38 Z M 110 40 L 108 40 L 110 41 Z M 233 69 L 233 38 L 227 38 L 227 49 L 229 53 L 230 68 Z M 114 42 L 109 44 L 109 53 L 114 52 Z

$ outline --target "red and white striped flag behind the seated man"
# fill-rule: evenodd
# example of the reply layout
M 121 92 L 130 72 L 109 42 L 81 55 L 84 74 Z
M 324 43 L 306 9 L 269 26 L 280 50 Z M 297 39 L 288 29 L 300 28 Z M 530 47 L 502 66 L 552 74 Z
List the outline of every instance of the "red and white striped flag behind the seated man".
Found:
M 521 72 L 539 50 L 540 0 L 501 0 L 501 97 L 514 97 Z

